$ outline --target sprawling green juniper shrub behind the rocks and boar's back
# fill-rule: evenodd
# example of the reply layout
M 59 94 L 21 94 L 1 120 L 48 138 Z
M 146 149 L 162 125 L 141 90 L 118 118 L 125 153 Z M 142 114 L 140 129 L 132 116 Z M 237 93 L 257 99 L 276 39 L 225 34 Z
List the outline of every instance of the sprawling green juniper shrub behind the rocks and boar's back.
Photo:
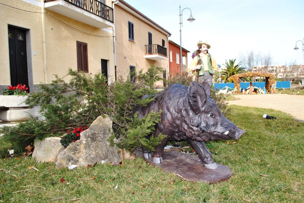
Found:
M 52 83 L 40 84 L 40 91 L 29 94 L 26 103 L 30 107 L 39 105 L 39 113 L 44 119 L 32 117 L 17 126 L 3 127 L 0 129 L 0 133 L 4 134 L 1 139 L 25 147 L 36 138 L 60 136 L 75 126 L 90 126 L 98 116 L 105 114 L 113 121 L 113 136 L 120 140 L 119 145 L 127 149 L 136 148 L 130 146 L 132 141 L 128 140 L 129 135 L 134 135 L 131 133 L 133 128 L 136 128 L 133 124 L 133 108 L 153 100 L 151 97 L 145 100 L 141 98 L 145 94 L 156 93 L 156 90 L 151 88 L 151 81 L 154 83 L 159 79 L 157 74 L 160 70 L 160 67 L 151 66 L 147 73 L 140 71 L 135 75 L 140 78 L 136 83 L 119 78 L 116 83 L 107 86 L 106 78 L 101 73 L 90 76 L 69 69 L 66 76 L 71 77 L 71 80 L 68 83 L 64 78 L 56 76 Z M 160 112 L 157 115 L 160 115 Z M 155 125 L 155 119 L 155 116 L 147 116 L 141 122 L 148 129 L 152 129 L 151 123 Z M 158 140 L 161 138 L 160 136 Z M 155 147 L 157 139 L 155 140 L 153 143 L 143 141 L 141 146 L 149 144 Z

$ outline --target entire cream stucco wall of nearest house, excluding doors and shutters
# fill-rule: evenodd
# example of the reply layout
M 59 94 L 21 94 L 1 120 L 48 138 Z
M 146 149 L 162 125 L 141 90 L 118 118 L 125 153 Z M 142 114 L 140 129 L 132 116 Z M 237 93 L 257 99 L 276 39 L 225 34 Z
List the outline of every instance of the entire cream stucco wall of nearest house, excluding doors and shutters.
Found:
M 8 25 L 26 29 L 30 86 L 39 83 L 50 83 L 51 80 L 55 79 L 54 74 L 62 77 L 66 75 L 68 68 L 77 70 L 76 41 L 88 44 L 88 74 L 95 74 L 100 71 L 101 59 L 105 59 L 108 60 L 108 74 L 110 74 L 112 79 L 114 78 L 112 28 L 98 29 L 45 9 L 47 13 L 44 15 L 45 53 L 47 58 L 47 71 L 45 71 L 40 0 L 2 0 L 1 3 L 4 5 L 0 4 L 2 16 L 0 21 L 0 44 L 2 45 L 0 51 L 0 86 L 11 84 Z M 36 52 L 36 55 L 33 55 L 33 52 Z

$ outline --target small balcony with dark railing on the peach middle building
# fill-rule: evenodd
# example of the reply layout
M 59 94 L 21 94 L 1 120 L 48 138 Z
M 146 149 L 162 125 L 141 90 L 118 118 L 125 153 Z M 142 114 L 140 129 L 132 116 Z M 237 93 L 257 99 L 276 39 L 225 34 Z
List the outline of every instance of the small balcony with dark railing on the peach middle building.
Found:
M 146 59 L 151 59 L 154 61 L 166 60 L 167 57 L 167 48 L 160 46 L 159 44 L 149 44 L 145 45 L 146 48 Z

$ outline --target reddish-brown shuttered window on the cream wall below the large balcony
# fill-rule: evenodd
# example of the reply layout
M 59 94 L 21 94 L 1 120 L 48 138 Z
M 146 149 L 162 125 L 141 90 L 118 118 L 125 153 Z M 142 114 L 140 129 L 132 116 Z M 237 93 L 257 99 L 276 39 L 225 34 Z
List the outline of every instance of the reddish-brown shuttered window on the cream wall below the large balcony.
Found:
M 77 68 L 78 71 L 89 72 L 88 68 L 88 44 L 77 41 Z

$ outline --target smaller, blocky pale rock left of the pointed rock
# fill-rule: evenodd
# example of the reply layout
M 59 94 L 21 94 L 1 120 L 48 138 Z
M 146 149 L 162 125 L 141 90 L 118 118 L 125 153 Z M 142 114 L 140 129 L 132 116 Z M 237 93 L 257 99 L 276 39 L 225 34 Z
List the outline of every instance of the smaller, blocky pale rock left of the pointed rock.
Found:
M 35 140 L 32 158 L 38 162 L 56 162 L 58 154 L 64 150 L 60 139 L 60 137 L 47 137 L 44 140 Z

